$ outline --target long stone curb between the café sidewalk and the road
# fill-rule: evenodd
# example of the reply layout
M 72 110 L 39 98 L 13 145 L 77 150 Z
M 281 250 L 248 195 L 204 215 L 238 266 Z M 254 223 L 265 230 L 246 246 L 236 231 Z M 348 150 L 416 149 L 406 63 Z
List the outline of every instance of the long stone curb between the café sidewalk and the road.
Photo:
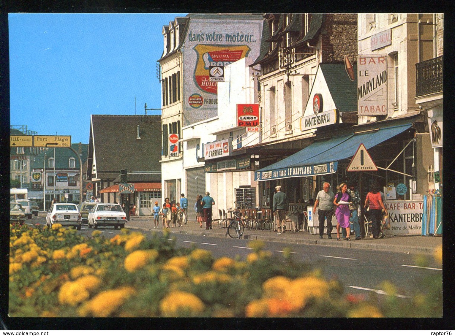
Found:
M 155 229 L 144 229 L 139 226 L 128 226 L 128 229 L 136 230 L 145 230 L 145 231 L 155 231 Z M 177 228 L 175 228 L 177 229 Z M 160 231 L 162 228 L 160 228 Z M 157 231 L 158 232 L 158 231 Z M 215 232 L 211 230 L 203 231 L 193 231 L 193 230 L 171 230 L 171 233 L 179 233 L 193 236 L 211 236 L 218 238 L 226 238 L 226 233 Z M 231 238 L 229 238 L 231 239 Z M 412 253 L 412 254 L 433 254 L 433 247 L 418 247 L 418 246 L 401 246 L 401 245 L 389 245 L 381 244 L 376 240 L 374 243 L 369 242 L 353 242 L 353 241 L 329 241 L 328 239 L 318 240 L 318 239 L 301 239 L 293 238 L 292 236 L 285 237 L 273 237 L 273 236 L 263 236 L 260 234 L 244 234 L 244 240 L 260 240 L 260 241 L 275 241 L 280 243 L 290 243 L 290 244 L 302 244 L 302 245 L 319 245 L 319 246 L 331 246 L 331 247 L 341 247 L 341 248 L 351 248 L 351 249 L 360 249 L 360 250 L 372 250 L 372 251 L 389 251 L 389 252 L 399 252 L 399 253 Z M 387 238 L 385 238 L 387 239 Z

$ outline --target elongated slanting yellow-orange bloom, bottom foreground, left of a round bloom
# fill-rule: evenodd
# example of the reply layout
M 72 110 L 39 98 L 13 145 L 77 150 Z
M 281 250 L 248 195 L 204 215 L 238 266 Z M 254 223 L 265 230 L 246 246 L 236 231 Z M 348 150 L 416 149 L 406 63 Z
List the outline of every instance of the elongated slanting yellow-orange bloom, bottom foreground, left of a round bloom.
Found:
M 93 315 L 96 317 L 107 317 L 135 293 L 136 291 L 132 287 L 103 291 L 86 302 L 79 309 L 79 314 L 81 316 Z

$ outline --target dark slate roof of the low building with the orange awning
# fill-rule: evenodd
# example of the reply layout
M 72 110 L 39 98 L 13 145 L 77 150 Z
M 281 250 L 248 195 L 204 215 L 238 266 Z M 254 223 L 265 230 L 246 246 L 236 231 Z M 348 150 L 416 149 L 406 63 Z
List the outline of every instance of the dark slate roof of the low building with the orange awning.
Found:
M 137 125 L 141 139 L 137 139 Z M 121 169 L 161 172 L 161 134 L 161 115 L 91 115 L 87 174 L 91 174 L 93 152 L 101 179 L 116 178 Z

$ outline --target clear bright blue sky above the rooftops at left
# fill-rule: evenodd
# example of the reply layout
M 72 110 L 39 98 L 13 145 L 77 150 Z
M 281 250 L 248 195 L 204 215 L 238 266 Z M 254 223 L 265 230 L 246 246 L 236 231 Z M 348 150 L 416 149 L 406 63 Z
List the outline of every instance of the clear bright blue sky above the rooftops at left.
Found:
M 162 26 L 185 15 L 10 13 L 10 125 L 88 143 L 91 114 L 160 108 Z

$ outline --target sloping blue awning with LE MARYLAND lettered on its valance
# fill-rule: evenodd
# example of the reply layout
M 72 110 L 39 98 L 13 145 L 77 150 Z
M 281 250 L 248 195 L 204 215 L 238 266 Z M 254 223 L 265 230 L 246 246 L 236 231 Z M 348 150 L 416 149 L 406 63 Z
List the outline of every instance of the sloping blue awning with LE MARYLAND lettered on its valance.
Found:
M 360 144 L 364 144 L 366 149 L 369 149 L 404 132 L 411 125 L 384 127 L 379 130 L 315 141 L 303 150 L 255 171 L 254 181 L 333 174 L 337 171 L 338 160 L 353 156 Z

